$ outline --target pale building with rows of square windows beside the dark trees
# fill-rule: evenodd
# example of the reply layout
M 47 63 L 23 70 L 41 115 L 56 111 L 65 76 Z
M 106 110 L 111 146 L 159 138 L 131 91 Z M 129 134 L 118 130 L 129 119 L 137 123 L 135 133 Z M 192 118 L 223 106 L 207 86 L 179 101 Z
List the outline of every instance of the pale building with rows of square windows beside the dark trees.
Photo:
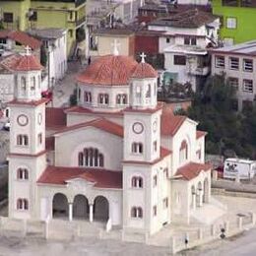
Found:
M 222 75 L 234 87 L 238 109 L 256 99 L 256 40 L 212 49 L 212 74 Z

